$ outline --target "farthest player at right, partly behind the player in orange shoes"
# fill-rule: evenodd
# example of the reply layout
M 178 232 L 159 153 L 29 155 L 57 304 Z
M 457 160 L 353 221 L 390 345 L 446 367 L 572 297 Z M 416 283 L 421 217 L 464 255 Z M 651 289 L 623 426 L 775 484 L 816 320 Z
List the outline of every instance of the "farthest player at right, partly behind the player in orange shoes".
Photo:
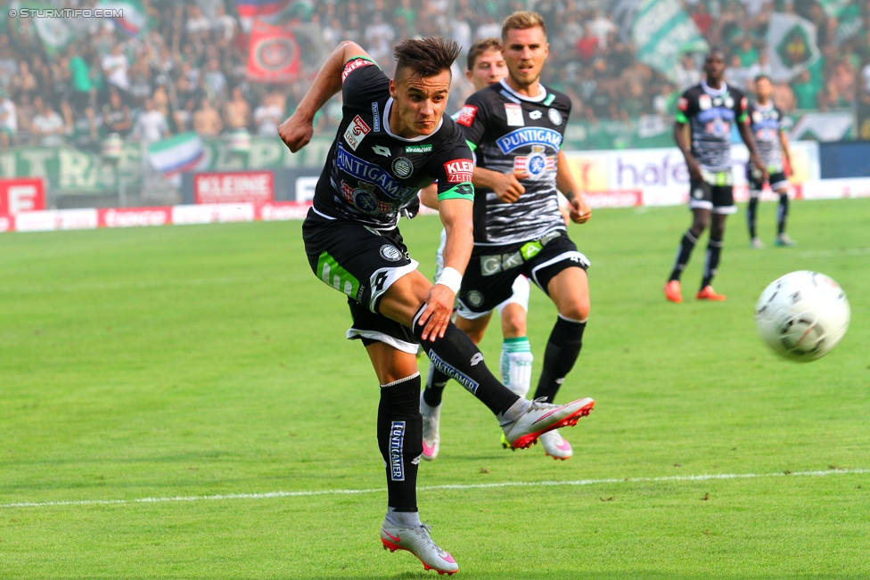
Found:
M 776 108 L 770 98 L 773 85 L 767 75 L 755 78 L 756 100 L 749 105 L 749 122 L 755 143 L 758 145 L 759 156 L 767 174 L 770 176 L 770 189 L 779 194 L 779 207 L 776 208 L 776 240 L 777 246 L 793 246 L 795 242 L 785 233 L 785 220 L 788 217 L 788 179 L 786 167 L 792 167 L 789 156 L 788 137 L 783 127 L 783 111 Z M 759 195 L 764 187 L 761 172 L 757 168 L 746 166 L 746 181 L 749 182 L 749 207 L 746 208 L 746 223 L 749 225 L 750 245 L 752 248 L 764 248 L 756 230 L 756 216 L 759 208 Z

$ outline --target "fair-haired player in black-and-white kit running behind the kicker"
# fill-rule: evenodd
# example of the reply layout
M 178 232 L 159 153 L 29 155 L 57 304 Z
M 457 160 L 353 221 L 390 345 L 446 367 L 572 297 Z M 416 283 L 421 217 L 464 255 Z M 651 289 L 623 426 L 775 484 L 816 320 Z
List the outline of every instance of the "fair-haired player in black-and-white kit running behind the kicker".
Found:
M 477 154 L 474 184 L 480 189 L 456 324 L 479 342 L 493 308 L 512 296 L 517 276 L 535 282 L 559 312 L 535 392 L 536 399 L 552 402 L 577 360 L 589 315 L 589 263 L 568 238 L 557 186 L 575 222 L 586 222 L 591 211 L 562 153 L 570 99 L 539 82 L 548 53 L 544 20 L 514 12 L 502 25 L 502 42 L 508 76 L 472 94 L 457 118 Z M 437 371 L 434 385 L 447 380 Z M 554 458 L 572 454 L 556 431 L 541 442 Z

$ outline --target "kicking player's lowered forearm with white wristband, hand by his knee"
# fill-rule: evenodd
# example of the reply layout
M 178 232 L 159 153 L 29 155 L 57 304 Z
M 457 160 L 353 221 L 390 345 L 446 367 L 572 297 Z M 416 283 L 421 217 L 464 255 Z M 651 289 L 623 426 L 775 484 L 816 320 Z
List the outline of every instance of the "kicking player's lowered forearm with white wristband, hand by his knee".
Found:
M 444 244 L 444 270 L 426 295 L 426 310 L 418 323 L 423 323 L 423 339 L 437 335 L 444 337 L 447 323 L 453 315 L 453 303 L 468 258 L 472 256 L 474 237 L 472 234 L 472 200 L 441 200 L 439 201 L 439 216 L 447 233 Z

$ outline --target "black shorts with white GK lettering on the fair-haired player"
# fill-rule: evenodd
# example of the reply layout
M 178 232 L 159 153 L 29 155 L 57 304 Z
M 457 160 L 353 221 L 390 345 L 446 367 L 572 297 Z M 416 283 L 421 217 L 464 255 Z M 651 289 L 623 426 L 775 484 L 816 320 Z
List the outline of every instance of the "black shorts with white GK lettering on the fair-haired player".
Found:
M 475 246 L 459 290 L 460 316 L 474 320 L 511 298 L 513 281 L 520 274 L 546 293 L 547 284 L 566 268 L 589 267 L 564 230 L 538 240 L 505 246 Z

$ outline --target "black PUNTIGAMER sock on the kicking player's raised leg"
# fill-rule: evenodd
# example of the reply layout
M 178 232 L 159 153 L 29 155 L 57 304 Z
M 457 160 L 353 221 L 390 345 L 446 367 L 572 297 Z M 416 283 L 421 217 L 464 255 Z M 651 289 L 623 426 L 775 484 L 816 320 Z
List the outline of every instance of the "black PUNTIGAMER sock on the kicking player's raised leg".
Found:
M 429 355 L 432 364 L 479 398 L 480 402 L 487 405 L 495 415 L 510 409 L 520 397 L 498 382 L 492 372 L 489 372 L 478 347 L 474 346 L 468 335 L 456 328 L 456 324 L 447 324 L 443 339 L 436 338 L 434 341 L 421 339 L 423 326 L 417 324 L 417 319 L 425 308 L 425 304 L 420 306 L 417 314 L 414 315 L 412 330 L 414 337 L 426 351 L 426 355 Z

